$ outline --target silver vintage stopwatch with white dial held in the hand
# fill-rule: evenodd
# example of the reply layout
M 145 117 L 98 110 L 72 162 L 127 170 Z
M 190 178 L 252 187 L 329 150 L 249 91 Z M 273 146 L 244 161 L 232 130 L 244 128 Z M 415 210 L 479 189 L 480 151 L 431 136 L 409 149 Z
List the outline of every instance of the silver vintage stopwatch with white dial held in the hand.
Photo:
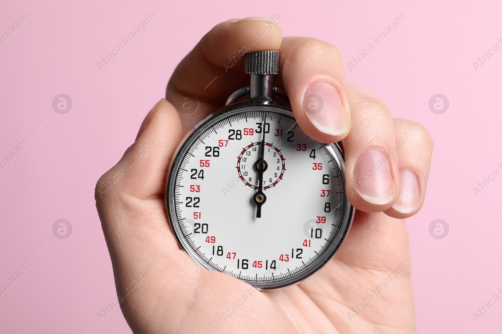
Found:
M 174 235 L 195 262 L 263 290 L 320 269 L 354 213 L 340 147 L 309 138 L 291 106 L 275 100 L 289 103 L 274 87 L 278 72 L 278 51 L 246 55 L 249 87 L 185 136 L 164 196 Z

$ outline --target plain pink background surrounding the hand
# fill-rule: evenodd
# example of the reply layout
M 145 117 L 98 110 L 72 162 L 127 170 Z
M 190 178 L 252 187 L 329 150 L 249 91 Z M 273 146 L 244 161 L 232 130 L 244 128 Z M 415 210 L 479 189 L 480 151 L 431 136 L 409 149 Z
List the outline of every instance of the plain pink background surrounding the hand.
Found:
M 396 117 L 422 124 L 435 139 L 428 196 L 407 220 L 414 254 L 417 331 L 500 332 L 502 301 L 476 322 L 472 312 L 502 288 L 502 176 L 475 196 L 500 149 L 502 50 L 475 71 L 472 62 L 502 44 L 502 6 L 492 1 L 406 0 L 335 2 L 290 0 L 5 1 L 0 33 L 30 18 L 0 46 L 0 159 L 23 138 L 30 143 L 0 171 L 0 283 L 30 269 L 0 296 L 0 331 L 22 333 L 130 332 L 116 308 L 111 263 L 94 206 L 98 177 L 134 141 L 150 108 L 164 95 L 175 66 L 215 24 L 274 13 L 284 36 L 315 37 L 349 61 L 400 13 L 396 32 L 376 46 L 347 81 L 379 96 Z M 163 4 L 164 3 L 164 4 Z M 288 5 L 289 4 L 289 5 Z M 162 5 L 162 7 L 161 7 Z M 253 8 L 253 9 L 250 9 Z M 96 62 L 148 13 L 155 19 L 101 72 Z M 374 44 L 374 43 L 373 43 Z M 73 109 L 57 114 L 58 94 Z M 450 107 L 432 113 L 429 99 Z M 58 219 L 69 239 L 52 233 Z M 431 237 L 444 219 L 449 235 Z M 41 250 L 43 250 L 41 252 Z M 38 254 L 38 255 L 37 255 Z M 498 293 L 499 296 L 502 296 Z

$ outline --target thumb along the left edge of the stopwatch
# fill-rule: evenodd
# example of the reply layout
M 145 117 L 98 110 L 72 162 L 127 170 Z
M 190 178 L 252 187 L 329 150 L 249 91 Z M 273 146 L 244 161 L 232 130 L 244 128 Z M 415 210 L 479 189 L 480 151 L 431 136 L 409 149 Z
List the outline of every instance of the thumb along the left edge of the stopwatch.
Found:
M 132 265 L 158 257 L 176 242 L 164 213 L 163 192 L 169 163 L 183 136 L 181 122 L 164 99 L 149 116 L 144 131 L 101 176 L 94 192 L 114 267 L 116 261 Z

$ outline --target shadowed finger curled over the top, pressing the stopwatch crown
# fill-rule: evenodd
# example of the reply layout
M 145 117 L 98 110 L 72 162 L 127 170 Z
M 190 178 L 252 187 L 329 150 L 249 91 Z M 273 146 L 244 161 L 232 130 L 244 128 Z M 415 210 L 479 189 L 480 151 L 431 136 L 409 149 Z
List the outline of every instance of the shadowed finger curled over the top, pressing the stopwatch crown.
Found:
M 222 107 L 235 90 L 249 85 L 245 53 L 278 50 L 282 32 L 263 18 L 229 20 L 216 25 L 181 61 L 166 89 L 180 112 L 185 132 Z

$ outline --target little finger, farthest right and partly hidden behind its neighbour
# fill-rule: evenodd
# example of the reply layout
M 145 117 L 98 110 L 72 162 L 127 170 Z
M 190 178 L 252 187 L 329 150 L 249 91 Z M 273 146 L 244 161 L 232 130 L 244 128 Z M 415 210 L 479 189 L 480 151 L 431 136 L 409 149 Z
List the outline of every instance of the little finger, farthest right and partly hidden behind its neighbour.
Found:
M 401 189 L 398 201 L 385 213 L 406 218 L 417 213 L 424 203 L 434 141 L 423 126 L 409 120 L 395 118 L 394 133 Z

